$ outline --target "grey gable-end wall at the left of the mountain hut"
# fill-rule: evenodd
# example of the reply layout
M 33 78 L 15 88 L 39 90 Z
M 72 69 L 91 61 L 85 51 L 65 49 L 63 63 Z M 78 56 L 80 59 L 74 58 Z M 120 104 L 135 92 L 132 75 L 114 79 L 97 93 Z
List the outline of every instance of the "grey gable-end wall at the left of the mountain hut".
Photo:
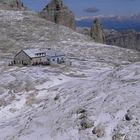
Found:
M 28 55 L 21 51 L 14 57 L 14 62 L 15 64 L 31 64 L 31 59 Z

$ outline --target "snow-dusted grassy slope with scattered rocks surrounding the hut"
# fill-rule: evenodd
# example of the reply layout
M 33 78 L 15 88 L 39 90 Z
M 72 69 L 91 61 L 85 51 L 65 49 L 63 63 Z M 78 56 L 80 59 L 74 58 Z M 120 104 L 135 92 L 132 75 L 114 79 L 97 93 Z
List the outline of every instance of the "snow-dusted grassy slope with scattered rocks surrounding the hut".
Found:
M 72 66 L 8 66 L 32 47 L 62 50 Z M 0 140 L 140 140 L 137 51 L 0 11 L 0 58 Z

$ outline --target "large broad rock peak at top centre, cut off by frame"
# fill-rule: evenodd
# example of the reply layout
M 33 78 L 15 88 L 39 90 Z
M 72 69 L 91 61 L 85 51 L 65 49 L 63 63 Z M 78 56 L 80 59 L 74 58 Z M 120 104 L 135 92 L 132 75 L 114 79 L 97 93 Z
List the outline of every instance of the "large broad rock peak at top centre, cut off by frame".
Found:
M 75 17 L 62 0 L 52 0 L 40 13 L 47 20 L 75 29 Z

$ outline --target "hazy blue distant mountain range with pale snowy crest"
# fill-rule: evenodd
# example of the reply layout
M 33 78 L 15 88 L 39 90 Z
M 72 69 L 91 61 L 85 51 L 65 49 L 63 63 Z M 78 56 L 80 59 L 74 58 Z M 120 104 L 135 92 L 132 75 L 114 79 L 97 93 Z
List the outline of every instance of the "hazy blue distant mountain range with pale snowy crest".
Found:
M 76 25 L 78 27 L 91 27 L 93 20 L 94 17 L 76 19 Z M 106 29 L 115 29 L 117 31 L 134 29 L 140 31 L 140 15 L 100 17 L 100 20 Z

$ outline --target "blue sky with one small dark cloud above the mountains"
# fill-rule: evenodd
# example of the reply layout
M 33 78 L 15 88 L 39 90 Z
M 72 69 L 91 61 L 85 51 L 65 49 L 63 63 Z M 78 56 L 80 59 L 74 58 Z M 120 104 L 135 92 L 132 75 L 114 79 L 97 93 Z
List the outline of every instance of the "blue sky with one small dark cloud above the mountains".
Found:
M 31 10 L 40 11 L 50 0 L 22 0 Z M 131 15 L 140 13 L 140 0 L 64 0 L 80 16 Z

